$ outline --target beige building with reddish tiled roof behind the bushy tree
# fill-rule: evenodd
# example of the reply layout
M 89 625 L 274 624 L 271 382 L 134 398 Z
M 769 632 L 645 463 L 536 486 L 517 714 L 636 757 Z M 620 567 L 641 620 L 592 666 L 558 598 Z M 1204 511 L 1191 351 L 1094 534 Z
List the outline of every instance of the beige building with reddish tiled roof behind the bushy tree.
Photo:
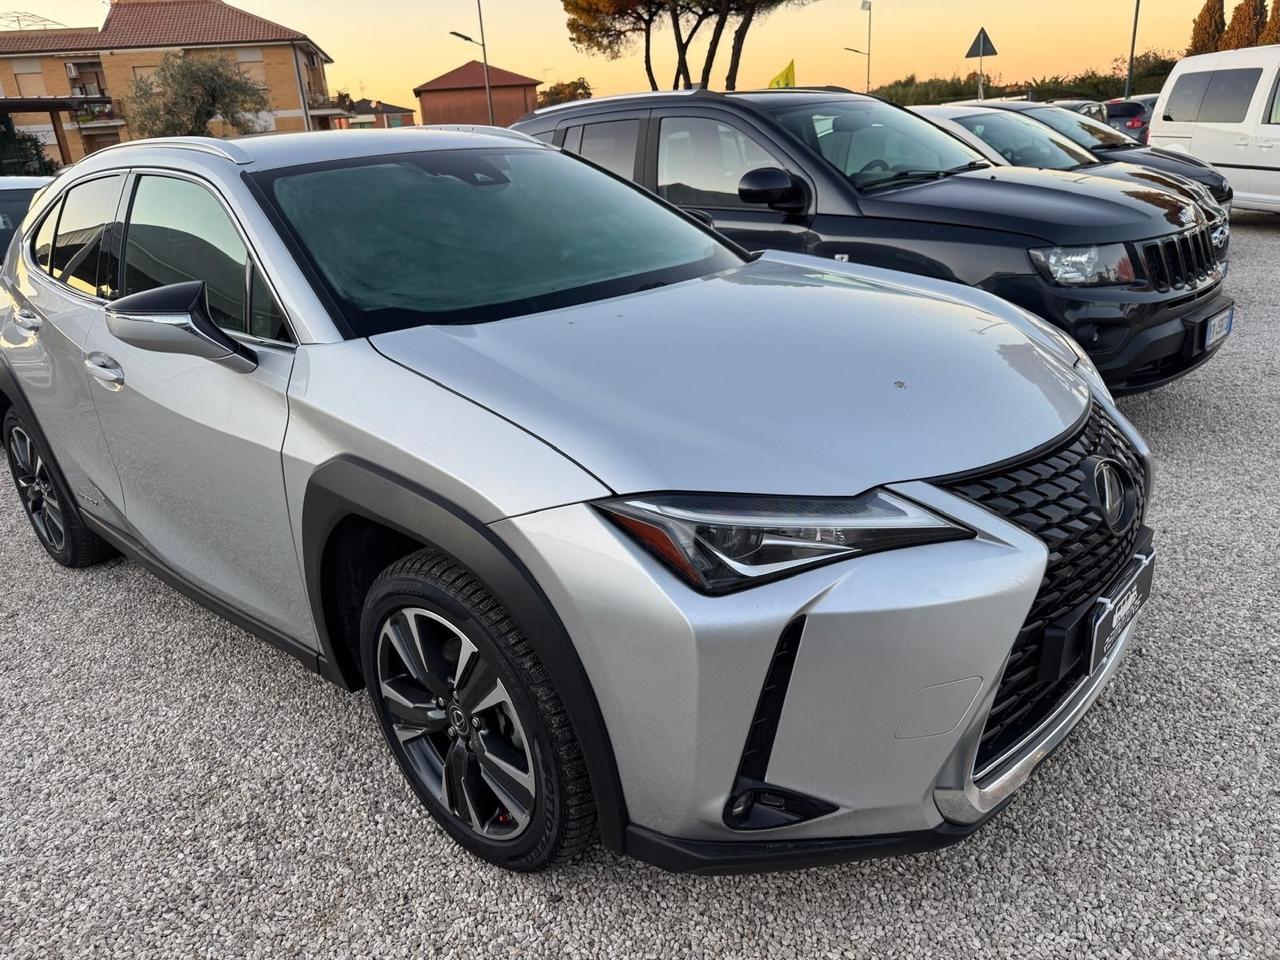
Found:
M 0 31 L 0 113 L 73 163 L 131 138 L 129 88 L 170 52 L 229 58 L 265 84 L 261 132 L 329 129 L 347 116 L 329 95 L 324 50 L 221 0 L 113 0 L 100 28 Z

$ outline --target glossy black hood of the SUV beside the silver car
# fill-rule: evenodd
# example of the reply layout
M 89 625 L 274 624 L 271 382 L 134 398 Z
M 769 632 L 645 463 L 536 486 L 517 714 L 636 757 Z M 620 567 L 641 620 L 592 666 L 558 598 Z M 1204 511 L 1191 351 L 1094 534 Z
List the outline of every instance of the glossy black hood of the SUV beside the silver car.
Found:
M 1116 243 L 1184 228 L 1196 205 L 1147 196 L 1074 170 L 992 166 L 908 187 L 863 193 L 868 216 L 1005 230 L 1053 244 Z

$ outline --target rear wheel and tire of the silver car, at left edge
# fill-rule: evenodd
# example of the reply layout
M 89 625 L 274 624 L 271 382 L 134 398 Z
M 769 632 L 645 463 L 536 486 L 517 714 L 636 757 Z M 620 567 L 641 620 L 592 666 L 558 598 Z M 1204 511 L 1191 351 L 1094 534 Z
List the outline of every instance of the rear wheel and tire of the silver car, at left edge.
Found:
M 114 557 L 115 548 L 86 526 L 67 479 L 17 410 L 9 408 L 0 430 L 18 499 L 49 556 L 64 567 L 90 567 Z

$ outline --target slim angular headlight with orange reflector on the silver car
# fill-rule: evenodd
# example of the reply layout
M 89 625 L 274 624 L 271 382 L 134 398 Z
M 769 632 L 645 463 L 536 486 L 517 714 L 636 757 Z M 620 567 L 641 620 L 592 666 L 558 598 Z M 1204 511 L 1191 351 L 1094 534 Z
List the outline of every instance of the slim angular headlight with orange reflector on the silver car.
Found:
M 595 506 L 690 586 L 710 594 L 864 553 L 974 535 L 886 490 L 850 498 L 673 493 Z

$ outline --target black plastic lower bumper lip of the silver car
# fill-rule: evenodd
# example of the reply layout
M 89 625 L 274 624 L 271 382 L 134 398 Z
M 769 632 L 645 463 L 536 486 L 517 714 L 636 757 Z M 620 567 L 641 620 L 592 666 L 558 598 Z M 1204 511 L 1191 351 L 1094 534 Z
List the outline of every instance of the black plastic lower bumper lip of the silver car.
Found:
M 1006 801 L 1007 803 L 1007 801 Z M 672 873 L 764 873 L 831 867 L 854 860 L 905 856 L 959 844 L 1005 808 L 977 823 L 941 823 L 933 829 L 824 840 L 681 840 L 631 824 L 626 852 Z

